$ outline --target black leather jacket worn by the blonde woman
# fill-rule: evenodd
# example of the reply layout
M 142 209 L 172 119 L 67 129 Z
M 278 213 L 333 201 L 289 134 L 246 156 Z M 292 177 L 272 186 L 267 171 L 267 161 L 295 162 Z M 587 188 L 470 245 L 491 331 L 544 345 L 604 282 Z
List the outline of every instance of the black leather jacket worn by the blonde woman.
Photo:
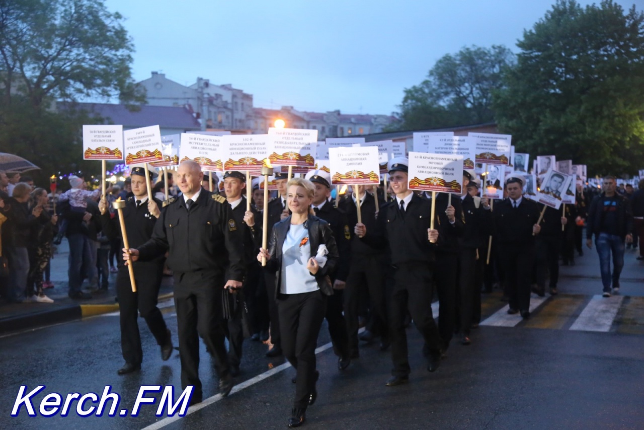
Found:
M 266 262 L 266 269 L 275 273 L 275 298 L 278 297 L 281 289 L 282 246 L 290 229 L 290 218 L 289 216 L 273 226 L 269 240 L 270 259 Z M 317 255 L 317 248 L 320 245 L 327 246 L 327 264 L 323 268 L 319 268 L 317 273 L 312 276 L 316 278 L 317 286 L 323 294 L 327 296 L 333 295 L 333 286 L 328 281 L 327 276 L 330 278 L 334 275 L 340 258 L 337 252 L 336 239 L 328 222 L 314 215 L 308 215 L 308 219 L 305 221 L 305 228 L 308 230 L 308 242 L 311 247 L 310 257 Z

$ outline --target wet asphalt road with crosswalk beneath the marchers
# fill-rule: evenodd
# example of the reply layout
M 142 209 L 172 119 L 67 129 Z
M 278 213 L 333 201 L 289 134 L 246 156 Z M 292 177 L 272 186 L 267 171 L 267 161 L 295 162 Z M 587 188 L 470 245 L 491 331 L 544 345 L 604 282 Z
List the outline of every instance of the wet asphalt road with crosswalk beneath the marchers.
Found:
M 507 317 L 500 292 L 484 295 L 484 320 L 473 344 L 452 342 L 448 357 L 428 373 L 421 338 L 412 326 L 410 383 L 386 387 L 389 353 L 361 347 L 361 358 L 339 372 L 323 327 L 318 340 L 317 403 L 307 411 L 310 429 L 641 429 L 644 422 L 643 266 L 627 256 L 621 295 L 600 300 L 594 251 L 562 268 L 560 295 L 533 298 L 533 316 Z M 536 306 L 538 305 L 538 306 Z M 164 316 L 176 344 L 171 302 Z M 231 396 L 220 399 L 211 359 L 202 346 L 200 375 L 204 404 L 183 418 L 155 416 L 158 402 L 131 409 L 140 386 L 173 385 L 180 392 L 178 354 L 162 362 L 145 324 L 140 373 L 118 376 L 122 365 L 118 317 L 114 314 L 44 327 L 0 338 L 1 428 L 16 429 L 272 429 L 284 428 L 290 413 L 294 370 L 264 357 L 267 346 L 245 342 L 243 373 Z M 12 408 L 21 386 L 46 386 L 33 396 L 38 416 Z M 38 406 L 48 393 L 120 394 L 126 416 L 43 417 Z M 175 393 L 178 395 L 178 393 Z M 149 395 L 152 396 L 152 395 Z M 160 394 L 155 395 L 157 398 Z M 109 403 L 108 403 L 109 405 Z M 89 406 L 89 404 L 86 404 Z

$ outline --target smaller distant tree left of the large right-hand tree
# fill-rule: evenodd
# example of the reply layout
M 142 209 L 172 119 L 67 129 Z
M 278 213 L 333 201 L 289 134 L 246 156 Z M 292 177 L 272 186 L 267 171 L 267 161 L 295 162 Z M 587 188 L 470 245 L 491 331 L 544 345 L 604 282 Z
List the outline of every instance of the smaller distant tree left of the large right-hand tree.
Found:
M 505 46 L 472 46 L 444 55 L 428 78 L 404 90 L 399 130 L 420 130 L 494 121 L 492 92 L 514 55 Z

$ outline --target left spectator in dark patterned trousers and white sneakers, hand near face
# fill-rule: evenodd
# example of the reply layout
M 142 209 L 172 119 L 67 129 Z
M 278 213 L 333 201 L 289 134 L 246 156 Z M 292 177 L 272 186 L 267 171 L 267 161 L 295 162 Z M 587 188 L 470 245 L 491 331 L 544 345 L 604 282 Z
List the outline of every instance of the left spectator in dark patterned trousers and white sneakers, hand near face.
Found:
M 26 291 L 26 301 L 53 303 L 53 300 L 43 293 L 43 272 L 52 257 L 52 240 L 57 233 L 57 215 L 50 215 L 44 210 L 48 204 L 47 191 L 36 188 L 29 200 L 29 210 L 40 207 L 42 212 L 37 224 L 32 224 L 28 246 L 29 279 Z

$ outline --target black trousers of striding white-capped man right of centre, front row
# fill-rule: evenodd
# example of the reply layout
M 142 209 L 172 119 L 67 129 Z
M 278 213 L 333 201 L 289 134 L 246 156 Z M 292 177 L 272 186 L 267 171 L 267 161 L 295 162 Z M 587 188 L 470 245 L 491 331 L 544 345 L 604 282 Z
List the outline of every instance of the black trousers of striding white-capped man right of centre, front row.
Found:
M 442 340 L 439 329 L 431 315 L 433 297 L 432 273 L 429 264 L 400 264 L 393 278 L 390 300 L 390 339 L 392 341 L 393 376 L 410 373 L 405 318 L 409 313 L 425 340 L 432 355 L 440 355 Z

